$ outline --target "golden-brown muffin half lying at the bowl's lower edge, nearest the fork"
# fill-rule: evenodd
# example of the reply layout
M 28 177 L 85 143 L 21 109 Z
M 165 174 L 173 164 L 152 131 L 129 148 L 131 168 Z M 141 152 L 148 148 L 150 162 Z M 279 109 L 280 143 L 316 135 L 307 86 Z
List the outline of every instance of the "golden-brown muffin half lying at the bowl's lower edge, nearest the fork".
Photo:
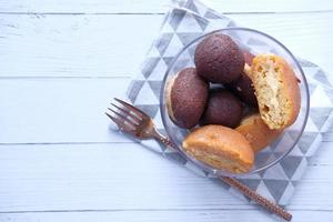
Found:
M 195 129 L 183 141 L 184 151 L 215 169 L 245 173 L 253 167 L 250 143 L 238 131 L 222 125 Z

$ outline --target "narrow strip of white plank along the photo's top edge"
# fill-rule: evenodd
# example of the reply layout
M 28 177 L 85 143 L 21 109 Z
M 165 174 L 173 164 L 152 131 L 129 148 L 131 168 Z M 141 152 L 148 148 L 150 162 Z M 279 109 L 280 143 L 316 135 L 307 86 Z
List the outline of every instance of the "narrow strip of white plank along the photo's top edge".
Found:
M 221 12 L 289 12 L 289 11 L 326 11 L 333 9 L 331 0 L 245 0 L 219 1 L 202 0 L 206 6 Z M 0 12 L 32 13 L 164 13 L 170 0 L 16 0 L 0 1 Z

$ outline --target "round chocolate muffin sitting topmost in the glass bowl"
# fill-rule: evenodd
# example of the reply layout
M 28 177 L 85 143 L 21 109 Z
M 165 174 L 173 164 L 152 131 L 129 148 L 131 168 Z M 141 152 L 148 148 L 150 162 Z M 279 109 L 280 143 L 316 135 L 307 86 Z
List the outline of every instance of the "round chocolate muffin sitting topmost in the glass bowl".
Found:
M 195 49 L 198 74 L 214 83 L 230 83 L 244 68 L 244 56 L 236 43 L 225 34 L 211 34 Z

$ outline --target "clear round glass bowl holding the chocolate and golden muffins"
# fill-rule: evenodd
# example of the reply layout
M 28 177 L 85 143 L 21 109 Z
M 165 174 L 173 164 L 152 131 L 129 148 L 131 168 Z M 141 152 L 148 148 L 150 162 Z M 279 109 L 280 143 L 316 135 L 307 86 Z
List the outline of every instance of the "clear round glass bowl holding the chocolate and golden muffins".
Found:
M 202 170 L 213 175 L 229 175 L 229 176 L 240 175 L 240 174 L 232 174 L 223 170 L 214 169 L 188 155 L 182 149 L 182 141 L 184 137 L 186 137 L 186 134 L 189 133 L 189 130 L 176 127 L 170 119 L 167 110 L 167 104 L 165 104 L 167 82 L 182 69 L 194 67 L 195 48 L 204 37 L 211 33 L 228 34 L 239 44 L 240 48 L 246 49 L 253 54 L 271 52 L 283 57 L 289 62 L 289 64 L 293 68 L 296 77 L 301 80 L 300 82 L 301 110 L 297 120 L 295 121 L 294 124 L 285 129 L 283 133 L 276 139 L 276 141 L 274 141 L 272 144 L 269 145 L 269 148 L 256 153 L 254 167 L 250 172 L 245 174 L 256 173 L 265 169 L 269 169 L 275 163 L 278 163 L 279 161 L 281 161 L 282 158 L 285 157 L 287 153 L 290 153 L 294 148 L 294 145 L 297 143 L 299 139 L 301 138 L 309 115 L 310 95 L 309 95 L 306 79 L 294 56 L 281 42 L 279 42 L 274 38 L 263 32 L 252 30 L 252 29 L 245 29 L 245 28 L 228 28 L 228 29 L 216 30 L 193 40 L 190 44 L 184 47 L 174 57 L 172 63 L 169 65 L 169 69 L 167 70 L 167 73 L 164 75 L 163 84 L 161 89 L 161 98 L 160 98 L 161 115 L 162 115 L 162 121 L 167 130 L 167 133 L 172 140 L 172 142 L 176 144 L 179 152 L 188 161 L 191 161 Z

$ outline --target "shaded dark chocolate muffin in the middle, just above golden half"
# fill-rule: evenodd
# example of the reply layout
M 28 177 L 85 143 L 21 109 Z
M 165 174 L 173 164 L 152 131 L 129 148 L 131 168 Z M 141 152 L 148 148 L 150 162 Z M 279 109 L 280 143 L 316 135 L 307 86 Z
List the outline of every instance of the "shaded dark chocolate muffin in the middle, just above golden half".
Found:
M 212 91 L 201 123 L 235 128 L 240 124 L 242 114 L 242 102 L 235 95 L 226 90 Z

